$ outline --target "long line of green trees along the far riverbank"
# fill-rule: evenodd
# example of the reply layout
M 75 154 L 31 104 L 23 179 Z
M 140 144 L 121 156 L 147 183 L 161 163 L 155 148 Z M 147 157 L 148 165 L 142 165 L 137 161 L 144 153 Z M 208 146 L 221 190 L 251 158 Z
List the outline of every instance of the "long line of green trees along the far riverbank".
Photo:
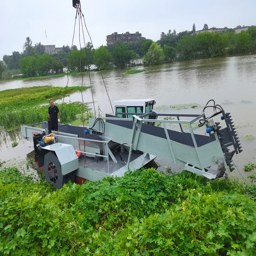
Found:
M 63 51 L 58 54 L 45 54 L 41 43 L 36 43 L 32 47 L 32 41 L 28 37 L 22 54 L 13 52 L 11 56 L 4 55 L 3 61 L 0 61 L 0 79 L 6 79 L 4 72 L 10 72 L 10 70 L 16 70 L 12 72 L 19 72 L 24 77 L 30 77 L 60 74 L 63 73 L 64 67 L 68 67 L 70 72 L 87 71 L 92 68 L 92 65 L 98 70 L 124 68 L 135 66 L 135 60 L 138 58 L 143 58 L 144 65 L 159 65 L 173 61 L 256 52 L 255 26 L 240 33 L 235 33 L 228 28 L 225 28 L 222 33 L 211 33 L 207 29 L 207 24 L 204 24 L 205 32 L 196 35 L 194 24 L 191 31 L 161 32 L 160 39 L 156 42 L 146 38 L 132 43 L 117 40 L 108 46 L 100 46 L 95 49 L 95 52 L 88 42 L 81 51 L 73 45 L 71 55 L 71 47 L 68 45 L 63 45 Z

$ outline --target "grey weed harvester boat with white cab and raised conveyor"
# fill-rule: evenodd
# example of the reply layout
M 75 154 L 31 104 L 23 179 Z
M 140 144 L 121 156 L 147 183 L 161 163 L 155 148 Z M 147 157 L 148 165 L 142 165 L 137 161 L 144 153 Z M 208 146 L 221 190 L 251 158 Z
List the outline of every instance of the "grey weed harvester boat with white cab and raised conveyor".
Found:
M 157 156 L 209 179 L 233 170 L 232 157 L 242 150 L 230 113 L 215 102 L 206 105 L 201 114 L 160 113 L 153 109 L 154 104 L 154 99 L 116 101 L 114 115 L 90 118 L 85 129 L 61 124 L 59 132 L 51 131 L 48 121 L 35 124 L 41 128 L 22 126 L 22 135 L 34 142 L 35 162 L 43 169 L 46 181 L 56 188 L 69 180 L 82 184 L 122 176 Z M 214 113 L 206 117 L 204 110 L 208 107 Z M 158 119 L 161 116 L 167 118 Z M 176 120 L 170 120 L 170 116 Z M 194 126 L 197 122 L 199 125 Z M 169 129 L 169 124 L 177 124 L 180 131 Z M 197 134 L 202 129 L 205 135 Z

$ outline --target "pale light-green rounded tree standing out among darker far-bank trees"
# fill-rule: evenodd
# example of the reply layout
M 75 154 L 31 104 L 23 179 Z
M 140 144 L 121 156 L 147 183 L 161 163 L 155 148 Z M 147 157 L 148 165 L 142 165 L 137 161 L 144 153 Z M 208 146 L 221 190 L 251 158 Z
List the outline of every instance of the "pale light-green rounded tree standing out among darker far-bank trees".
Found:
M 148 52 L 143 57 L 144 65 L 159 65 L 163 63 L 163 49 L 159 44 L 152 43 Z

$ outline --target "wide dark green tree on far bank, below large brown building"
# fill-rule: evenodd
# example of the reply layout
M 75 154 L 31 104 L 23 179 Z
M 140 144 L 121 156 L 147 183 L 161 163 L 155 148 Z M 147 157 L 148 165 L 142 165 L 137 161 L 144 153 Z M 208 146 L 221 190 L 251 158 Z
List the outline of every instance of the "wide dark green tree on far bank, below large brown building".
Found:
M 133 51 L 129 51 L 125 45 L 120 45 L 114 48 L 112 53 L 113 63 L 118 68 L 125 68 L 131 61 L 134 60 L 138 55 Z

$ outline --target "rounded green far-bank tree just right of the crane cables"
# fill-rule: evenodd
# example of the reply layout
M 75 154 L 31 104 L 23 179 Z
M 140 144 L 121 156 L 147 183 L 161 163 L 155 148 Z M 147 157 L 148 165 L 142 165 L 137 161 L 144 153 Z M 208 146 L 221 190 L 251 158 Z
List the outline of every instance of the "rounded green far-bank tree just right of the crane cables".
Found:
M 96 58 L 97 60 L 96 60 Z M 100 46 L 95 50 L 94 65 L 100 70 L 108 70 L 111 68 L 110 62 L 112 60 L 111 53 L 105 48 L 105 46 Z

